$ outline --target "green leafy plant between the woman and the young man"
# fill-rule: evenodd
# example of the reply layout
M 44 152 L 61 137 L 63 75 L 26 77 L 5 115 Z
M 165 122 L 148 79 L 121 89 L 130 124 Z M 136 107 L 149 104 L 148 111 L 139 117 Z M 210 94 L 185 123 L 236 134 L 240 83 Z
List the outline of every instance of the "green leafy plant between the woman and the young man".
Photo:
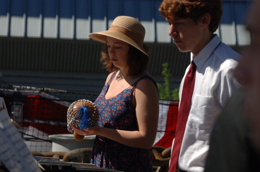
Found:
M 159 99 L 164 100 L 179 100 L 179 89 L 171 89 L 170 77 L 172 76 L 170 69 L 168 68 L 168 62 L 162 64 L 162 76 L 164 76 L 164 84 L 157 83 L 159 89 Z

